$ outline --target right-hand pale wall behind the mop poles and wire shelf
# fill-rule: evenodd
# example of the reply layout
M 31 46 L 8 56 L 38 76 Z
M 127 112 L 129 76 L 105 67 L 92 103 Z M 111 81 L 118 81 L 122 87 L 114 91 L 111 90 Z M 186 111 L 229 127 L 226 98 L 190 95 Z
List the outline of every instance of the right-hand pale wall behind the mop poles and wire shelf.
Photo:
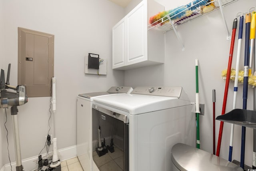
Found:
M 137 2 L 137 0 L 134 0 Z M 246 3 L 238 0 L 224 8 L 224 13 L 230 33 L 236 13 L 247 12 L 255 6 L 254 0 Z M 175 6 L 176 7 L 176 6 Z M 174 8 L 175 8 L 174 7 Z M 244 25 L 245 27 L 245 25 Z M 166 33 L 165 63 L 124 72 L 126 86 L 182 86 L 188 93 L 190 100 L 195 102 L 196 78 L 195 59 L 199 59 L 199 93 L 200 103 L 205 104 L 205 115 L 200 116 L 201 149 L 212 153 L 212 89 L 216 89 L 216 117 L 221 114 L 225 81 L 221 79 L 222 70 L 228 66 L 230 40 L 226 40 L 226 31 L 221 18 L 220 10 L 212 12 L 202 18 L 178 27 L 178 33 L 184 42 L 185 51 L 174 34 Z M 245 36 L 245 33 L 244 35 Z M 233 55 L 232 67 L 236 64 L 237 37 Z M 244 41 L 243 41 L 244 46 Z M 240 70 L 244 65 L 244 48 L 241 51 Z M 230 83 L 226 112 L 232 110 L 234 83 Z M 237 108 L 242 108 L 242 88 L 238 87 Z M 252 88 L 248 91 L 248 107 L 253 109 Z M 216 147 L 218 141 L 220 121 L 216 121 Z M 252 137 L 253 131 L 246 129 L 246 157 L 245 164 L 252 165 Z M 233 159 L 240 161 L 241 127 L 235 126 Z M 230 141 L 230 124 L 224 123 L 220 157 L 228 159 Z

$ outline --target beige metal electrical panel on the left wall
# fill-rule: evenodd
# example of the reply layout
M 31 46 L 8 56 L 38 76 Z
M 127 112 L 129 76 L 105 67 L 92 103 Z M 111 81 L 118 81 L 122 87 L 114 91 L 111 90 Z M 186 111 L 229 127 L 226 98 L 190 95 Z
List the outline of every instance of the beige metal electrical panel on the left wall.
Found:
M 51 96 L 54 35 L 18 28 L 18 85 L 28 97 Z

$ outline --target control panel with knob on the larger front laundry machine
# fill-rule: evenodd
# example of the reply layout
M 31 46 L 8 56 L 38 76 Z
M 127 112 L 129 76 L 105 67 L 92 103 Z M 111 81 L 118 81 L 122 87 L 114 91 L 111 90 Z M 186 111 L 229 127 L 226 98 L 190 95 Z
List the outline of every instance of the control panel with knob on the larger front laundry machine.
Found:
M 132 94 L 180 97 L 182 87 L 136 87 Z

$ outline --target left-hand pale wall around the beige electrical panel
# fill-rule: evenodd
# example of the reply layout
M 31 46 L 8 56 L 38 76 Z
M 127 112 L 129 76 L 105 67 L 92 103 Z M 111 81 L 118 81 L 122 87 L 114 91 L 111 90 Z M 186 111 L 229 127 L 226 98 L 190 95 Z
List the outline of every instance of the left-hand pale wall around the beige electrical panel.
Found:
M 76 95 L 106 91 L 123 85 L 124 72 L 112 70 L 112 26 L 123 16 L 124 9 L 108 0 L 12 0 L 0 1 L 0 66 L 7 71 L 12 64 L 10 84 L 17 85 L 18 27 L 54 34 L 54 76 L 56 77 L 56 137 L 58 149 L 76 145 Z M 3 18 L 2 18 L 3 17 Z M 2 21 L 3 20 L 3 21 Z M 108 60 L 108 74 L 84 74 L 84 56 L 88 52 Z M 22 159 L 37 156 L 44 147 L 48 132 L 50 97 L 28 98 L 19 106 L 18 121 Z M 8 111 L 9 149 L 15 161 L 12 121 Z M 0 111 L 0 167 L 9 163 L 6 137 Z M 53 117 L 50 119 L 53 134 Z M 3 146 L 1 145 L 3 144 Z M 2 148 L 2 149 L 1 149 Z M 42 151 L 46 153 L 46 151 Z M 25 168 L 26 170 L 26 168 Z

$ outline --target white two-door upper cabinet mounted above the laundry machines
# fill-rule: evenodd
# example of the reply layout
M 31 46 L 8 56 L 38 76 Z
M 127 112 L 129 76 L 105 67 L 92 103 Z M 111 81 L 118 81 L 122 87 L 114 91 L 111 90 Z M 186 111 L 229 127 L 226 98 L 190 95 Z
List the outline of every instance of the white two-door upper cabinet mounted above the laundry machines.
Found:
M 142 0 L 112 28 L 112 68 L 130 70 L 164 63 L 164 33 L 148 31 L 150 16 L 164 10 L 154 0 Z

